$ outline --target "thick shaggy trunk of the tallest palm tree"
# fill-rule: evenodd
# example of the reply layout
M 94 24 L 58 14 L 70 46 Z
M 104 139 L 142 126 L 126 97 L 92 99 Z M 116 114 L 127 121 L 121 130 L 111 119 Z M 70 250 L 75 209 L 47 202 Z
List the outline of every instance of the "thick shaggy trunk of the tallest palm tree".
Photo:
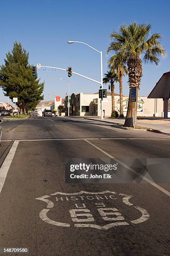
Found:
M 141 59 L 129 59 L 127 61 L 127 66 L 128 66 L 128 71 L 129 71 L 129 86 L 131 87 L 137 87 L 137 96 L 138 96 L 138 89 L 140 85 L 140 80 L 142 77 L 142 61 Z M 136 99 L 137 101 L 137 99 Z M 136 102 L 137 104 L 137 102 Z M 132 108 L 132 126 L 134 127 L 134 116 L 135 119 L 137 118 L 137 105 L 134 110 L 135 103 L 131 102 L 131 90 L 129 90 L 129 102 L 128 102 L 128 107 L 127 107 L 127 115 L 126 115 L 126 120 L 124 122 L 124 126 L 129 127 L 131 124 L 131 108 Z M 135 114 L 134 114 L 135 111 Z

